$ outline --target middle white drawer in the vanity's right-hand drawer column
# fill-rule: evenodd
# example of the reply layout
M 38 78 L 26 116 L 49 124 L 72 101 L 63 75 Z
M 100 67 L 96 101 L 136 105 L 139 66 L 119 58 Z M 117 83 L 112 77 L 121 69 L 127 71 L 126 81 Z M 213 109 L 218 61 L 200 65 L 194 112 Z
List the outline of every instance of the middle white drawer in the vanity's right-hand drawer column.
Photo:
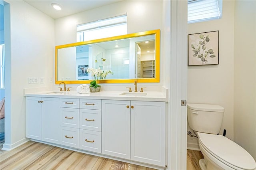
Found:
M 79 126 L 86 130 L 101 131 L 101 111 L 80 109 L 79 110 L 80 123 Z

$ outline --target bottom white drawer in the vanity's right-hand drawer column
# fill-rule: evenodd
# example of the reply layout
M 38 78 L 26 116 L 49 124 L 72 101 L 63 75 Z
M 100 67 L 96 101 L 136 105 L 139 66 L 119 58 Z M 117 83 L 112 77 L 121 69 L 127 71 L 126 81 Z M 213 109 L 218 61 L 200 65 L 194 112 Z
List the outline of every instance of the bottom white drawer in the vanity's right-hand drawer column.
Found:
M 79 129 L 79 148 L 101 153 L 101 132 Z

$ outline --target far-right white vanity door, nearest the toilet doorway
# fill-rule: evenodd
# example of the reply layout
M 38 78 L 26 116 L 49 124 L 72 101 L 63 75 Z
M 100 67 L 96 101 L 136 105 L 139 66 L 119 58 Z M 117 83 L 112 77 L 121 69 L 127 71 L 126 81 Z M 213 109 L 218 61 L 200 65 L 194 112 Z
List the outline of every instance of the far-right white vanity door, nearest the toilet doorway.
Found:
M 131 160 L 165 166 L 164 102 L 131 101 Z

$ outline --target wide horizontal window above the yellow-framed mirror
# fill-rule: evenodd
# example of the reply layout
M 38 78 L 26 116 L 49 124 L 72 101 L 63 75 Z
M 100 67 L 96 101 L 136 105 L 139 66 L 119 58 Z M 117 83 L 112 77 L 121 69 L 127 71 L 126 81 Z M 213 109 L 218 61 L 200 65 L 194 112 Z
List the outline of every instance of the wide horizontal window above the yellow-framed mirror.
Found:
M 116 16 L 76 27 L 77 42 L 127 34 L 127 15 Z

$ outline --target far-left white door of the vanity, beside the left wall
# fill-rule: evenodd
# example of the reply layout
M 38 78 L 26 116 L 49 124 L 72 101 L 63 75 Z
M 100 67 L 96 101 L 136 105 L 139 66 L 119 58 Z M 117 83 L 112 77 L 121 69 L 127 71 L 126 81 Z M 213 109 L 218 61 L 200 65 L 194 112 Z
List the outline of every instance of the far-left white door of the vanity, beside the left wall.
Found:
M 41 97 L 26 97 L 26 137 L 42 140 Z

